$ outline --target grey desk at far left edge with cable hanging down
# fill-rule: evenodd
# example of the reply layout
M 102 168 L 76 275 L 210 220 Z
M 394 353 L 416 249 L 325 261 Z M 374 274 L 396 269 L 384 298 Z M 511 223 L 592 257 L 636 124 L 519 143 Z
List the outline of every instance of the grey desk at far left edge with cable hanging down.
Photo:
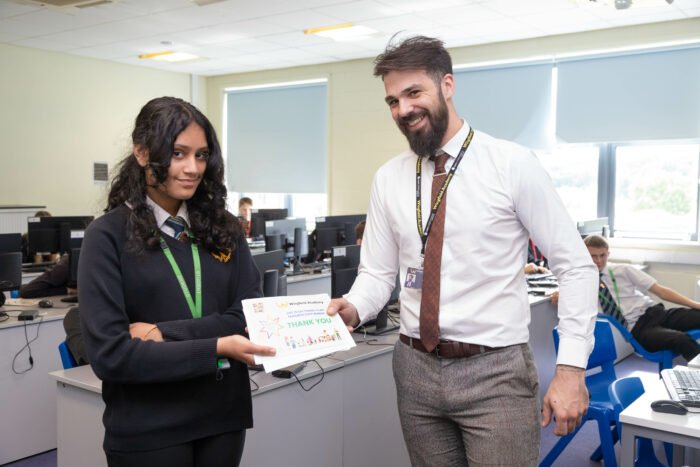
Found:
M 70 304 L 53 297 L 54 308 L 40 309 L 43 319 L 0 323 L 0 464 L 48 451 L 56 447 L 56 398 L 50 371 L 62 368 L 58 344 L 66 338 L 63 317 Z M 6 305 L 0 310 L 20 307 Z M 24 307 L 26 308 L 26 307 Z M 24 326 L 32 342 L 34 368 L 17 375 L 12 371 L 14 355 L 25 345 Z M 25 350 L 16 360 L 18 370 L 29 367 Z

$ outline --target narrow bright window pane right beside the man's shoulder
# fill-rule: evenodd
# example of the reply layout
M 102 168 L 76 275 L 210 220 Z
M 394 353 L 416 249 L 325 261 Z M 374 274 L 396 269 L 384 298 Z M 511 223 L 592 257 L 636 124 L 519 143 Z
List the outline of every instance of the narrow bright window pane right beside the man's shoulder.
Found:
M 538 154 L 574 221 L 598 217 L 598 146 L 566 145 Z

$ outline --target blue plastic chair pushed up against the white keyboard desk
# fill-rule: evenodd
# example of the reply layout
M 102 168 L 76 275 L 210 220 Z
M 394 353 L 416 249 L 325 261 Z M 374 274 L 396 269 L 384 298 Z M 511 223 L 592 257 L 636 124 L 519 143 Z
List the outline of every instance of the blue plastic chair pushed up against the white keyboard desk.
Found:
M 639 396 L 644 394 L 644 385 L 642 384 L 642 380 L 636 376 L 621 378 L 617 381 L 613 381 L 608 388 L 608 393 L 610 394 L 610 400 L 615 410 L 617 434 L 621 437 L 619 423 L 620 412 L 637 400 Z M 664 448 L 666 449 L 666 458 L 669 459 L 670 464 L 673 464 L 673 445 L 664 443 Z M 635 467 L 666 467 L 666 464 L 662 464 L 656 458 L 654 446 L 651 440 L 647 438 L 637 438 L 637 458 L 634 460 L 634 465 Z

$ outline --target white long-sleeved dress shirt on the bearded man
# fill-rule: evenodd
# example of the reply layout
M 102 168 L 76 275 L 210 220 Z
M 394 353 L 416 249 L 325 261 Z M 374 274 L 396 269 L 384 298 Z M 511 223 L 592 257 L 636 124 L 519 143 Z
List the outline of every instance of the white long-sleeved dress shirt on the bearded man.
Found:
M 442 148 L 449 170 L 469 125 Z M 365 322 L 376 316 L 406 269 L 420 267 L 416 154 L 384 164 L 372 182 L 357 280 L 345 296 Z M 422 217 L 430 214 L 434 164 L 423 161 Z M 447 189 L 440 271 L 440 338 L 500 347 L 528 342 L 523 266 L 528 236 L 559 280 L 557 363 L 586 367 L 593 348 L 598 272 L 534 153 L 475 131 Z M 430 238 L 428 239 L 430 241 Z M 401 289 L 401 333 L 420 337 L 421 291 Z

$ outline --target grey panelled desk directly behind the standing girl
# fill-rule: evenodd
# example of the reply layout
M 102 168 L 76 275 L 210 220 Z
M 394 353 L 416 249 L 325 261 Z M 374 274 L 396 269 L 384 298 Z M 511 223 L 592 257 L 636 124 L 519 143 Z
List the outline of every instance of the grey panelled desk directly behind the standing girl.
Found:
M 246 434 L 241 465 L 409 465 L 391 372 L 396 340 L 396 334 L 381 336 L 378 342 L 388 345 L 360 342 L 318 359 L 325 376 L 309 392 L 293 378 L 251 372 L 259 386 L 253 391 L 255 427 Z M 319 375 L 311 362 L 299 379 L 308 387 Z M 57 382 L 58 466 L 105 466 L 100 380 L 89 366 L 51 377 Z

